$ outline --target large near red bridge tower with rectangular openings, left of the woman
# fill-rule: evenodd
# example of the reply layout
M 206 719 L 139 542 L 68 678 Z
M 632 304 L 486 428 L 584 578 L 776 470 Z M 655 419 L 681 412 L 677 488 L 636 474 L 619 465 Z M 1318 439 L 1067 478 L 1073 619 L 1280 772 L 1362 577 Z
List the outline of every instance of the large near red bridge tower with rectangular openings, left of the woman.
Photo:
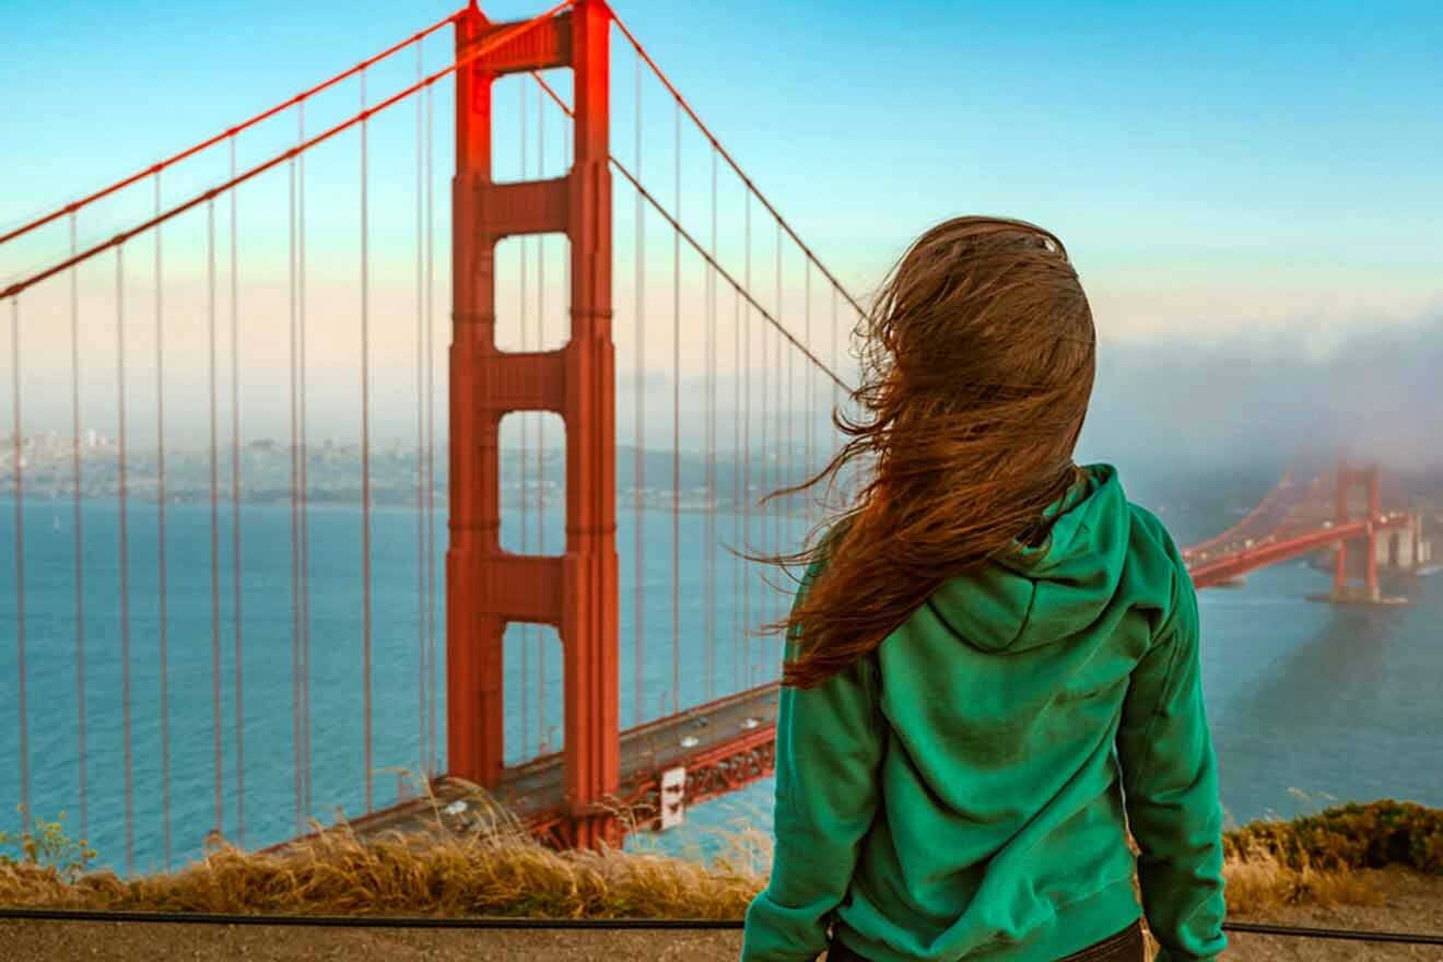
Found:
M 509 25 L 472 6 L 456 55 Z M 610 14 L 602 0 L 501 45 L 456 79 L 452 187 L 450 544 L 446 551 L 446 740 L 449 775 L 486 787 L 502 779 L 502 633 L 551 625 L 561 637 L 566 718 L 566 841 L 595 847 L 616 825 L 599 803 L 619 776 L 612 180 L 608 167 Z M 496 76 L 571 66 L 571 170 L 551 180 L 491 179 Z M 496 349 L 495 247 L 504 237 L 566 234 L 571 336 L 557 350 Z M 566 552 L 501 548 L 498 433 L 509 411 L 566 423 Z

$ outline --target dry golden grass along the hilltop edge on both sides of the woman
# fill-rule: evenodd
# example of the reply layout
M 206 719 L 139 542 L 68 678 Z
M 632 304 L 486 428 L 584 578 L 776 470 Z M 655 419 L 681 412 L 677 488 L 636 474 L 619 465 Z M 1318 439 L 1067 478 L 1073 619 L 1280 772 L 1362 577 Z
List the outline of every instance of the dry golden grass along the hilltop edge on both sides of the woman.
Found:
M 434 809 L 434 799 L 433 799 Z M 531 917 L 739 919 L 765 886 L 769 838 L 723 834 L 710 860 L 646 851 L 557 852 L 475 789 L 479 812 L 462 831 L 362 838 L 343 822 L 274 854 L 212 842 L 205 858 L 162 875 L 62 873 L 43 860 L 0 858 L 0 903 L 215 913 L 433 914 Z M 444 828 L 436 811 L 437 828 Z M 33 847 L 32 847 L 33 855 Z M 1228 912 L 1257 916 L 1297 904 L 1380 904 L 1382 894 L 1348 867 L 1297 865 L 1250 845 L 1229 858 Z

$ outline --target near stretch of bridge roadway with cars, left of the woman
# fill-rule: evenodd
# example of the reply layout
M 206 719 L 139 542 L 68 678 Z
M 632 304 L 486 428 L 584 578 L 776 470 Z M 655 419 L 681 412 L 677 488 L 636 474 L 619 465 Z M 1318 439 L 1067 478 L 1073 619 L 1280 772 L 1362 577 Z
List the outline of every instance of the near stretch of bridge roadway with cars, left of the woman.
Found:
M 652 825 L 658 816 L 661 773 L 677 766 L 687 769 L 687 805 L 769 776 L 778 691 L 778 684 L 771 682 L 623 731 L 619 808 L 631 811 L 636 828 Z M 426 798 L 414 798 L 351 819 L 349 825 L 364 837 L 397 831 L 424 838 L 483 818 L 483 806 L 463 782 L 442 776 L 431 783 L 431 793 L 434 806 Z M 563 793 L 561 753 L 553 753 L 506 769 L 492 799 L 545 837 L 564 822 Z M 447 811 L 455 802 L 465 802 L 465 808 Z M 266 851 L 281 851 L 309 838 L 313 835 Z

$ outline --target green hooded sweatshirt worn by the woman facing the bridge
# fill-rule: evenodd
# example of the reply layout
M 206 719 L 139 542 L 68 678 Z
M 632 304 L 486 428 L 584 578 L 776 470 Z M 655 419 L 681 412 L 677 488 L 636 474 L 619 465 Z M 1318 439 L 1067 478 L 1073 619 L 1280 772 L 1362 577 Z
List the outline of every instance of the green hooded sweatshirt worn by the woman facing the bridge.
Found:
M 1141 914 L 1134 865 L 1157 959 L 1224 950 L 1192 580 L 1108 464 L 1048 515 L 1022 561 L 945 581 L 867 658 L 782 689 L 745 962 L 814 959 L 828 923 L 876 962 L 1053 962 Z

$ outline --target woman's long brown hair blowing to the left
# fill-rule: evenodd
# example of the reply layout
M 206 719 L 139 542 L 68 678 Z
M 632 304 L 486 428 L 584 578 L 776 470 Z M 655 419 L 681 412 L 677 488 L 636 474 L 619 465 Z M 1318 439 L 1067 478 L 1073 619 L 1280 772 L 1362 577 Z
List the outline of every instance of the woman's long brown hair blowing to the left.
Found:
M 866 414 L 801 492 L 853 466 L 854 502 L 794 554 L 818 565 L 786 619 L 798 642 L 782 684 L 808 688 L 863 658 L 945 580 L 1042 545 L 1043 509 L 1078 477 L 1072 450 L 1092 392 L 1092 313 L 1062 242 L 1003 218 L 965 216 L 924 234 L 853 332 Z M 857 470 L 860 469 L 860 470 Z M 821 538 L 814 535 L 825 531 Z

